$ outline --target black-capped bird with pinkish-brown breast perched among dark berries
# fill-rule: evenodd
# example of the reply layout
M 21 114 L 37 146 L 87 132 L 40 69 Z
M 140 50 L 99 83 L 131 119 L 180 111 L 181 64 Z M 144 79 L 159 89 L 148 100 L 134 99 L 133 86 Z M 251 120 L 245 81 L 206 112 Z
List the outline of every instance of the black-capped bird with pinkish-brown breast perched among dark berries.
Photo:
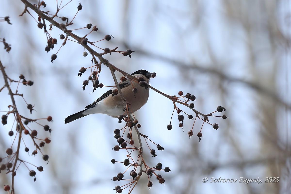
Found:
M 131 75 L 138 78 L 138 81 L 145 81 L 147 84 L 149 84 L 151 74 L 152 73 L 146 70 L 138 70 Z M 130 114 L 139 110 L 148 101 L 150 90 L 147 87 L 147 84 L 145 84 L 145 87 L 142 87 L 139 82 L 130 79 L 122 81 L 119 84 L 120 90 L 125 100 L 129 104 L 130 110 L 128 112 Z M 134 88 L 136 88 L 136 90 Z M 117 118 L 118 115 L 126 116 L 127 112 L 125 111 L 124 103 L 119 93 L 117 95 L 113 94 L 114 90 L 116 90 L 116 86 L 105 92 L 92 104 L 85 106 L 85 110 L 72 114 L 65 118 L 65 123 L 69 123 L 86 115 L 95 113 L 107 114 L 113 118 Z

